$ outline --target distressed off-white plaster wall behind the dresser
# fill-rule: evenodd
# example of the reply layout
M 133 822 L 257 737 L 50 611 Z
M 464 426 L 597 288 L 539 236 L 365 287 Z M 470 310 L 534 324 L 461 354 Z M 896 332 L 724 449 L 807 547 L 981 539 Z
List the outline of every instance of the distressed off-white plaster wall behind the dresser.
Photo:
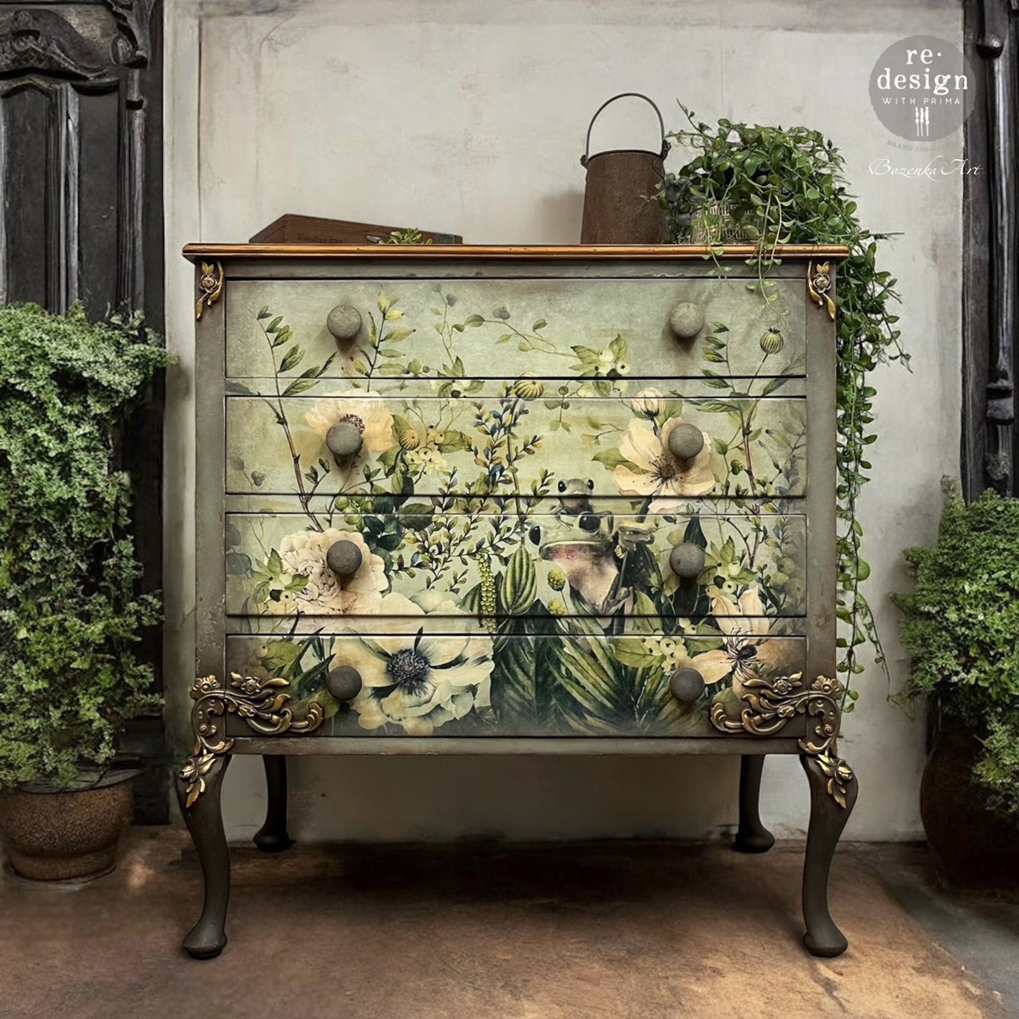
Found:
M 166 58 L 167 318 L 180 358 L 166 436 L 167 676 L 185 740 L 192 677 L 194 530 L 193 279 L 189 240 L 245 240 L 283 212 L 453 230 L 477 243 L 579 236 L 588 117 L 641 91 L 678 126 L 676 97 L 707 119 L 803 122 L 842 148 L 861 214 L 901 231 L 884 256 L 903 294 L 913 371 L 876 374 L 880 441 L 862 519 L 868 585 L 893 675 L 905 659 L 888 592 L 906 582 L 903 547 L 935 530 L 938 479 L 958 471 L 961 201 L 932 181 L 868 167 L 926 163 L 878 123 L 867 76 L 896 39 L 961 43 L 956 2 L 852 5 L 732 0 L 169 0 Z M 621 108 L 595 148 L 653 146 L 653 116 Z M 961 155 L 961 132 L 938 150 Z M 678 154 L 672 157 L 678 163 Z M 920 830 L 923 727 L 886 700 L 877 669 L 859 683 L 843 749 L 860 776 L 849 837 Z M 183 743 L 181 743 L 181 746 Z M 663 835 L 701 837 L 735 820 L 734 758 L 291 759 L 299 839 Z M 227 774 L 231 838 L 260 823 L 257 758 Z M 802 832 L 795 758 L 765 769 L 762 809 Z

